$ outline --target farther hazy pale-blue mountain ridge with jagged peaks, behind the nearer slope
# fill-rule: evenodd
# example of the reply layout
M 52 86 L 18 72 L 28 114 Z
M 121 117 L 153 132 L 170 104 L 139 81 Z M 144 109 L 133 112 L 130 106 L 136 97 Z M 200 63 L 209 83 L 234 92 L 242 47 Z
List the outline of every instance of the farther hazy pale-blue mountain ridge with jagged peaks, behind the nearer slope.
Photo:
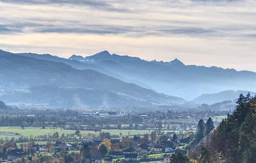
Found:
M 185 65 L 178 59 L 170 62 L 145 61 L 128 55 L 111 54 L 107 51 L 89 57 L 73 56 L 82 63 L 90 63 L 126 79 L 147 85 L 167 95 L 192 100 L 204 93 L 223 90 L 256 91 L 256 73 L 217 67 Z

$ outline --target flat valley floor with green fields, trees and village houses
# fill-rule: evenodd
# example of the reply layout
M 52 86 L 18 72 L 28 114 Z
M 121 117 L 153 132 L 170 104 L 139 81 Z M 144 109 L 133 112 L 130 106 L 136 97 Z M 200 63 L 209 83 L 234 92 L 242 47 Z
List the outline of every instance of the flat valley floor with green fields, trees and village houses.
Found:
M 229 113 L 24 110 L 3 102 L 1 110 L 1 162 L 169 162 L 193 147 L 202 121 L 210 133 Z

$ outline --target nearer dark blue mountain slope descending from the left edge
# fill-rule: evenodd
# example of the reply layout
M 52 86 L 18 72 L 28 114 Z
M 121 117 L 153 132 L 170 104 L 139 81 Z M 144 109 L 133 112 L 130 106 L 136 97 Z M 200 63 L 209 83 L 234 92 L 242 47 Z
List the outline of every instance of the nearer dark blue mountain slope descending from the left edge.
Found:
M 46 106 L 124 107 L 185 104 L 96 70 L 0 51 L 0 98 Z

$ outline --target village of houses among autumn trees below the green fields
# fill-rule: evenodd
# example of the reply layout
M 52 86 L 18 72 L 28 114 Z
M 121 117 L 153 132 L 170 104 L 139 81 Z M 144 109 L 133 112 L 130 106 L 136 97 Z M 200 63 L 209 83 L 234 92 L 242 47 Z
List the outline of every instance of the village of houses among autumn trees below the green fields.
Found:
M 132 138 L 96 138 L 82 142 L 48 141 L 46 144 L 35 142 L 21 143 L 9 147 L 6 156 L 1 153 L 1 162 L 17 162 L 20 159 L 72 159 L 74 162 L 168 162 L 174 153 L 187 153 L 186 146 L 193 138 L 191 135 L 175 133 L 150 135 Z M 10 149 L 12 148 L 12 149 Z M 98 149 L 98 150 L 97 150 Z M 6 159 L 5 159 L 6 158 Z

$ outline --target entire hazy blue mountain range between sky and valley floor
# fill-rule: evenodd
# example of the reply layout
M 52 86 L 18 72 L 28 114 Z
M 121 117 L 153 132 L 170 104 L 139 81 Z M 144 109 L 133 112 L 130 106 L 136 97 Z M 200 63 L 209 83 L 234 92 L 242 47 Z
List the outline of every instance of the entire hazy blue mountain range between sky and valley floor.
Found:
M 225 90 L 256 88 L 255 72 L 185 65 L 179 59 L 145 61 L 107 51 L 88 57 L 71 55 L 69 59 L 0 51 L 0 57 L 0 99 L 10 103 L 186 106 L 235 100 L 238 93 Z

